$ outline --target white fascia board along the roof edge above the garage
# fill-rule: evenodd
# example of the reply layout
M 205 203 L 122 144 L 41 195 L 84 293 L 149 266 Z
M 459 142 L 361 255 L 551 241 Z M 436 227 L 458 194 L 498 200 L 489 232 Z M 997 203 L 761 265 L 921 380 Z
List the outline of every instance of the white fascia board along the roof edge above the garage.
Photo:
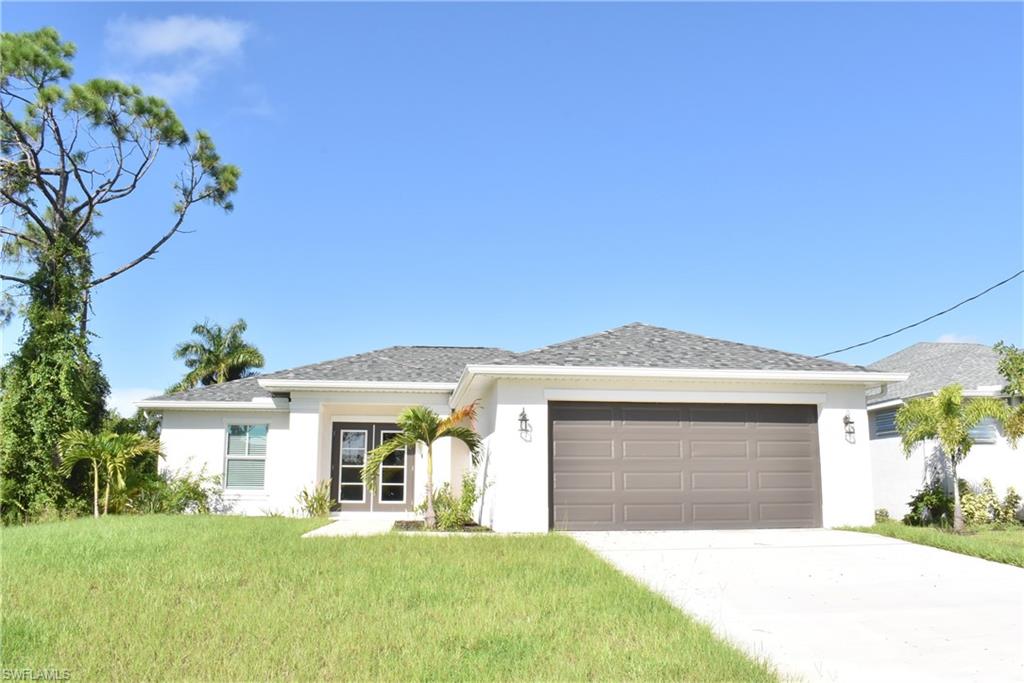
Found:
M 718 370 L 703 368 L 603 368 L 570 366 L 466 366 L 453 391 L 456 405 L 474 377 L 560 377 L 607 379 L 676 379 L 748 382 L 800 382 L 805 384 L 859 384 L 865 387 L 902 382 L 906 373 L 802 370 Z

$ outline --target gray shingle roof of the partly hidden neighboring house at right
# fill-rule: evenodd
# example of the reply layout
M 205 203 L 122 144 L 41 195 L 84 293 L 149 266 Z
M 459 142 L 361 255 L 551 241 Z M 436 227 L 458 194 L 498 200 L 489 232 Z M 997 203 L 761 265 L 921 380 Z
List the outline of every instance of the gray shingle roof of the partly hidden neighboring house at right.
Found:
M 888 385 L 883 393 L 869 395 L 867 403 L 919 396 L 953 383 L 965 389 L 1001 387 L 1006 380 L 997 370 L 998 361 L 998 354 L 984 344 L 919 342 L 868 366 L 871 370 L 908 373 L 910 377 Z

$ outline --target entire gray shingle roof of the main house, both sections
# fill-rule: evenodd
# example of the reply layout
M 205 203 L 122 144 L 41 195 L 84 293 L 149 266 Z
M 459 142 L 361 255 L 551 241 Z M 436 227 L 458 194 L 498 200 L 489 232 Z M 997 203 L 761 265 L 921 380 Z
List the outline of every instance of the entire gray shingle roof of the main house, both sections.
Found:
M 514 353 L 482 346 L 391 346 L 261 375 L 291 380 L 452 382 L 467 365 L 851 371 L 864 368 L 761 346 L 711 339 L 642 323 Z M 255 377 L 150 400 L 251 400 L 270 393 Z

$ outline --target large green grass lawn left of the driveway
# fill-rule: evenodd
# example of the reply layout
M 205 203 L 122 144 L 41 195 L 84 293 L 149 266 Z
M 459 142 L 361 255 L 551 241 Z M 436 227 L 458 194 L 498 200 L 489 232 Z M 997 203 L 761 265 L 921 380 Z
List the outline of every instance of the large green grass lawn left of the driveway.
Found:
M 569 538 L 299 538 L 316 525 L 5 528 L 0 667 L 73 680 L 774 679 Z

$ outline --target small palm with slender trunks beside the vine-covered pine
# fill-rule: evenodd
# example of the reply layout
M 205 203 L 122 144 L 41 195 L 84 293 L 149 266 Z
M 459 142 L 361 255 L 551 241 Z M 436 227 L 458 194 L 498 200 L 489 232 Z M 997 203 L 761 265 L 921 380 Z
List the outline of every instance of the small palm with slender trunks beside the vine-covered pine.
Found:
M 160 441 L 141 434 L 117 434 L 103 431 L 98 434 L 75 429 L 60 439 L 62 462 L 60 472 L 71 474 L 76 464 L 88 460 L 92 465 L 92 514 L 99 516 L 99 471 L 105 475 L 103 492 L 103 514 L 111 505 L 111 483 L 118 488 L 125 485 L 125 471 L 128 464 L 139 456 L 160 456 Z

